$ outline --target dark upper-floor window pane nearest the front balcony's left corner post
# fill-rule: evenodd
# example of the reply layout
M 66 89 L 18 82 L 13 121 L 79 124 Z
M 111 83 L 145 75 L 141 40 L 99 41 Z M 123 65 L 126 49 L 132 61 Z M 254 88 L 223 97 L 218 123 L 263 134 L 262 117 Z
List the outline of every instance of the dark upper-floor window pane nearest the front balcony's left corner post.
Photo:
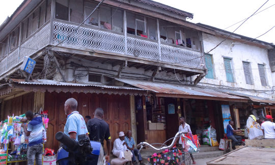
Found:
M 62 20 L 68 19 L 69 3 L 68 0 L 57 0 L 56 1 L 56 18 Z

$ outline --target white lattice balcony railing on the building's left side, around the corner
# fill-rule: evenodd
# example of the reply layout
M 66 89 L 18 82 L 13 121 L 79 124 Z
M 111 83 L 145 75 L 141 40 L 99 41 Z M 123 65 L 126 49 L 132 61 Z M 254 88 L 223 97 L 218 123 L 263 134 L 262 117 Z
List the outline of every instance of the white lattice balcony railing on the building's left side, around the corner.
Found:
M 41 30 L 27 39 L 19 48 L 10 52 L 8 56 L 0 62 L 0 75 L 21 63 L 25 56 L 31 56 L 44 46 L 49 44 L 50 39 L 50 23 L 46 24 Z M 19 51 L 19 56 L 18 56 Z

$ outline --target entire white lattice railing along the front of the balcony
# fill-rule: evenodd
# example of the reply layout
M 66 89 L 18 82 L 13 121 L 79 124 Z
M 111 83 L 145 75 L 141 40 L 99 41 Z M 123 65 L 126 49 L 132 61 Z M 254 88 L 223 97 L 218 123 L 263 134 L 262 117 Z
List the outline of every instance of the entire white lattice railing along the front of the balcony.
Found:
M 77 28 L 76 25 L 53 22 L 53 44 L 64 40 Z M 78 48 L 125 53 L 125 38 L 122 34 L 115 34 L 95 29 L 80 27 L 61 45 L 70 45 Z M 158 43 L 127 36 L 127 54 L 152 60 L 160 60 L 165 63 L 179 64 L 183 66 L 202 68 L 201 52 L 184 47 L 160 44 L 161 57 L 159 56 Z

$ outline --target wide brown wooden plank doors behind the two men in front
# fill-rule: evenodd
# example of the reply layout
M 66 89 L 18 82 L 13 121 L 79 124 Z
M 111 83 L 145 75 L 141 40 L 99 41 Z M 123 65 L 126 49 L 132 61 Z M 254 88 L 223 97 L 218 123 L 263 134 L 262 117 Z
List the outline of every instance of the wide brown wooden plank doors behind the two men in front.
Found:
M 112 146 L 119 131 L 127 131 L 130 124 L 130 97 L 129 95 L 108 95 L 108 94 L 84 94 L 84 93 L 45 93 L 45 110 L 48 110 L 49 126 L 47 130 L 47 143 L 45 147 L 57 150 L 59 143 L 55 140 L 55 134 L 63 131 L 66 124 L 64 112 L 65 101 L 73 97 L 77 100 L 77 109 L 83 117 L 93 113 L 97 107 L 104 111 L 104 120 L 109 124 L 112 137 Z

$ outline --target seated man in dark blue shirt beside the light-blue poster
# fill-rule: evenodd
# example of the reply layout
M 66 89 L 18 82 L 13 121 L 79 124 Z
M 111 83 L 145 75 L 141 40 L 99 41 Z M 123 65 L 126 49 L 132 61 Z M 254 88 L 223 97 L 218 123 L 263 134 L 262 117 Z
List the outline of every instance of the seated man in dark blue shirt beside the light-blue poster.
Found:
M 229 124 L 226 127 L 226 134 L 227 134 L 228 139 L 232 140 L 232 148 L 236 149 L 235 146 L 241 144 L 242 137 L 238 136 L 238 135 L 234 135 L 233 133 L 237 133 L 237 132 L 242 133 L 242 131 L 241 130 L 234 130 L 233 125 L 234 125 L 234 122 L 232 120 L 230 120 Z

